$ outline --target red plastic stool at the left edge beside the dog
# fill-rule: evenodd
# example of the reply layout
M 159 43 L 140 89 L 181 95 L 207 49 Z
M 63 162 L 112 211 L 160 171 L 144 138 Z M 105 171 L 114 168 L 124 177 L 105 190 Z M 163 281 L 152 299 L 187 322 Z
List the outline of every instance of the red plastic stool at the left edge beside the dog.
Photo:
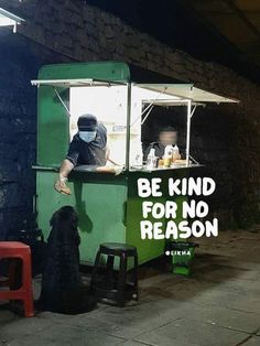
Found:
M 18 241 L 0 241 L 0 259 L 3 258 L 22 260 L 22 286 L 18 290 L 0 290 L 0 300 L 22 300 L 24 302 L 24 315 L 26 317 L 34 316 L 30 247 Z M 14 267 L 11 264 L 9 279 L 0 282 L 0 285 L 10 288 L 13 271 Z

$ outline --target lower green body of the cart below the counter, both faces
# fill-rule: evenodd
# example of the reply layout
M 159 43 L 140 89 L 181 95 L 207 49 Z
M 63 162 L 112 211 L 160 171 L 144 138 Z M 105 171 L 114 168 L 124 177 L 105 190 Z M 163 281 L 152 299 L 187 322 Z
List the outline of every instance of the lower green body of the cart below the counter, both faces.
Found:
M 140 221 L 142 217 L 142 202 L 152 201 L 165 203 L 175 201 L 178 206 L 185 196 L 170 197 L 167 180 L 170 176 L 185 176 L 186 170 L 154 172 L 151 174 L 130 172 L 128 175 L 73 172 L 68 186 L 72 195 L 58 194 L 53 184 L 57 176 L 55 172 L 37 171 L 37 210 L 39 226 L 44 237 L 50 234 L 52 214 L 64 205 L 72 205 L 79 216 L 80 261 L 93 264 L 96 252 L 101 242 L 127 242 L 138 248 L 139 263 L 147 262 L 164 253 L 165 240 L 141 239 Z M 147 177 L 162 177 L 162 197 L 140 198 L 137 191 L 137 180 Z M 152 219 L 162 221 L 166 219 Z M 182 220 L 181 208 L 175 223 Z

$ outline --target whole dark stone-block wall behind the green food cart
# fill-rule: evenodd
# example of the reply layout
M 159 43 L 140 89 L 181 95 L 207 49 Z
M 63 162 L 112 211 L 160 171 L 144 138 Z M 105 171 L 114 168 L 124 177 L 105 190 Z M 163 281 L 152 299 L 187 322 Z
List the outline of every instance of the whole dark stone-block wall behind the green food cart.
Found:
M 124 61 L 165 78 L 240 99 L 239 106 L 196 111 L 192 154 L 216 175 L 219 193 L 214 210 L 223 220 L 221 228 L 229 228 L 235 215 L 238 227 L 260 223 L 260 93 L 256 84 L 230 68 L 174 50 L 88 1 L 48 0 L 40 4 L 37 0 L 0 0 L 0 6 L 26 20 L 18 26 L 18 35 L 0 30 L 0 145 L 6 145 L 0 164 L 4 175 L 0 180 L 2 235 L 31 214 L 36 90 L 29 80 L 43 64 L 66 60 L 58 52 L 69 55 L 71 61 Z M 154 23 L 156 29 L 158 21 Z M 199 43 L 199 35 L 193 33 L 193 42 Z M 231 55 L 228 57 L 231 62 Z

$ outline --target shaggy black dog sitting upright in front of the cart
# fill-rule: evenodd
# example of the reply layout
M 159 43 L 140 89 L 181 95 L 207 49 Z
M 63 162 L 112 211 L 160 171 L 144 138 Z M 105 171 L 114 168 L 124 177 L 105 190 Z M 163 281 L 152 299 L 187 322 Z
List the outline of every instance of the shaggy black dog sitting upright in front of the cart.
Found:
M 79 273 L 77 214 L 73 207 L 64 206 L 53 214 L 50 224 L 52 230 L 47 239 L 39 306 L 65 314 L 89 312 L 97 302 L 83 285 Z

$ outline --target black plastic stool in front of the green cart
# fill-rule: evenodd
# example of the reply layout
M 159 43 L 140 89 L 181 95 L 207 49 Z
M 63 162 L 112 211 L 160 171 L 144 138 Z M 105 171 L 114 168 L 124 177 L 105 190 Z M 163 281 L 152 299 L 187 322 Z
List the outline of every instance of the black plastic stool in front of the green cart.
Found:
M 107 255 L 105 274 L 98 275 L 101 255 Z M 120 258 L 119 272 L 113 275 L 115 257 Z M 128 258 L 134 259 L 133 278 L 127 279 Z M 99 246 L 91 275 L 91 290 L 99 300 L 113 300 L 117 305 L 124 306 L 126 301 L 138 301 L 138 252 L 137 248 L 127 244 L 105 242 Z

